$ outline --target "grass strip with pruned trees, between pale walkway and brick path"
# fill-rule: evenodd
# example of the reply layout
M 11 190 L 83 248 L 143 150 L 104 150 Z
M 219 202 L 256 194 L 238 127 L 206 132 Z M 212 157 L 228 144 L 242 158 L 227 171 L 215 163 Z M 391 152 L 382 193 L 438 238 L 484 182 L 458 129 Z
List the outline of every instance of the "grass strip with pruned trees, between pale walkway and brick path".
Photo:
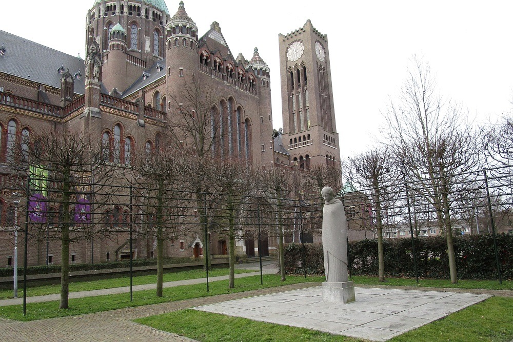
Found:
M 235 288 L 228 289 L 228 280 L 213 281 L 210 283 L 210 292 L 207 293 L 205 284 L 184 285 L 172 288 L 164 288 L 163 297 L 156 297 L 155 290 L 134 292 L 133 301 L 130 301 L 130 293 L 111 294 L 105 296 L 84 297 L 69 300 L 69 309 L 59 309 L 57 300 L 45 303 L 27 304 L 27 315 L 23 316 L 21 305 L 0 307 L 0 316 L 16 320 L 36 320 L 54 317 L 83 315 L 92 312 L 123 309 L 166 303 L 169 301 L 191 299 L 205 296 L 215 296 L 225 293 L 237 293 L 282 285 L 321 282 L 324 277 L 287 277 L 281 281 L 279 275 L 264 275 L 264 285 L 260 285 L 260 275 L 235 279 Z

